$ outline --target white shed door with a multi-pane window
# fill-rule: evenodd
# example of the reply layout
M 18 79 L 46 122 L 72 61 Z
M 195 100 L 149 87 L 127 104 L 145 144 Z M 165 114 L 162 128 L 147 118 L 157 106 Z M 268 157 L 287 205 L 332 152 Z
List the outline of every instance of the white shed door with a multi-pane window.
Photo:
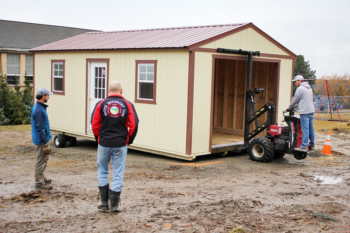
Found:
M 91 128 L 91 114 L 98 101 L 107 97 L 107 63 L 91 62 L 90 63 L 90 88 L 89 88 L 89 125 Z

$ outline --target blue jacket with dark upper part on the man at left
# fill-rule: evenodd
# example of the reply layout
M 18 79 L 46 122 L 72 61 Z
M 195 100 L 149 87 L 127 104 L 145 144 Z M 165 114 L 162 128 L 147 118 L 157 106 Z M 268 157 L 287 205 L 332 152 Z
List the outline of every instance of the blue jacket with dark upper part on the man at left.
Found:
M 36 101 L 31 109 L 31 138 L 34 144 L 45 145 L 52 138 L 47 107 L 48 105 Z

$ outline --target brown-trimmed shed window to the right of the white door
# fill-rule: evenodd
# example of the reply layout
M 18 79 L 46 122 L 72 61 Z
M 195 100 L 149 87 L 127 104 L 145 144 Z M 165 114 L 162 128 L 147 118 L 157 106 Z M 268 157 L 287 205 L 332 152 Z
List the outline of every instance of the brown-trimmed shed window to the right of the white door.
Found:
M 135 103 L 156 104 L 157 60 L 136 61 Z

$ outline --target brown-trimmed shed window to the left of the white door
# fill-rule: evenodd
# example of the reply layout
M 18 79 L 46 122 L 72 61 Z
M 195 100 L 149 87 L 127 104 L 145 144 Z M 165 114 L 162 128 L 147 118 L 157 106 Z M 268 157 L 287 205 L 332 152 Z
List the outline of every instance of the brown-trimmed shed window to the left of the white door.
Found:
M 65 60 L 51 60 L 51 90 L 54 94 L 58 95 L 64 95 L 64 61 Z

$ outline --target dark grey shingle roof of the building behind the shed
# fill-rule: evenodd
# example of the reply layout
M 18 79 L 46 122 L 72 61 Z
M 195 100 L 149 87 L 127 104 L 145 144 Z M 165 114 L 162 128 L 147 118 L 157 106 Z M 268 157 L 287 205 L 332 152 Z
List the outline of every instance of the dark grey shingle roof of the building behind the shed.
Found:
M 29 50 L 96 30 L 0 20 L 0 49 Z

